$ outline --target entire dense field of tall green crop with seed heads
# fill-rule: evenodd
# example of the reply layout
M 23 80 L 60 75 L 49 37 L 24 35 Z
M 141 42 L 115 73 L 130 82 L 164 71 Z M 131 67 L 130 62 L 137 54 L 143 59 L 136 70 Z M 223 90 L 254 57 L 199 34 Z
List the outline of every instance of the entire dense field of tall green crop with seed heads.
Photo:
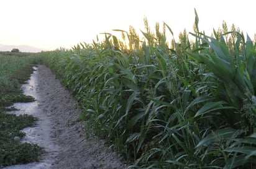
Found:
M 178 41 L 145 19 L 143 38 L 130 27 L 116 30 L 123 40 L 105 33 L 40 53 L 80 103 L 89 135 L 130 168 L 255 167 L 255 41 L 226 22 L 204 35 L 198 20 Z

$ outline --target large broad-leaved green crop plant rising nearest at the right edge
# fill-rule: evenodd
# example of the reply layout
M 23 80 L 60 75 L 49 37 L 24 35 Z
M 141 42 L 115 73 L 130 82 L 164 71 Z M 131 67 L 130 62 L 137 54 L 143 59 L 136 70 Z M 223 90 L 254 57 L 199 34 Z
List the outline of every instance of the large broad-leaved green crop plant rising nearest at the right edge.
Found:
M 252 134 L 254 132 L 253 126 L 255 119 L 255 110 L 253 106 L 255 104 L 253 99 L 255 93 L 254 84 L 250 79 L 254 79 L 254 77 L 250 77 L 247 69 L 252 70 L 255 58 L 253 53 L 255 52 L 255 49 L 251 48 L 251 46 L 247 47 L 247 45 L 244 44 L 243 48 L 245 48 L 245 50 L 241 53 L 236 48 L 236 56 L 232 57 L 223 37 L 221 37 L 220 41 L 211 37 L 204 37 L 202 40 L 209 44 L 213 52 L 210 50 L 203 50 L 201 51 L 201 54 L 190 53 L 190 56 L 193 59 L 196 59 L 196 61 L 206 64 L 209 71 L 213 72 L 214 76 L 216 76 L 217 80 L 219 80 L 219 83 L 222 85 L 219 97 L 234 106 L 235 109 L 233 110 L 233 113 L 229 111 L 229 113 L 224 114 L 229 125 L 232 127 L 236 126 L 237 128 L 244 128 L 249 124 L 249 126 L 247 126 L 248 134 Z M 240 39 L 238 39 L 235 45 L 238 45 L 239 41 Z M 247 41 L 247 44 L 250 44 L 249 41 Z M 247 48 L 250 48 L 250 50 Z M 246 65 L 248 59 L 251 59 L 253 64 Z M 245 107 L 249 107 L 249 109 L 245 110 Z M 246 117 L 241 121 L 241 116 L 244 116 L 244 113 L 246 114 Z

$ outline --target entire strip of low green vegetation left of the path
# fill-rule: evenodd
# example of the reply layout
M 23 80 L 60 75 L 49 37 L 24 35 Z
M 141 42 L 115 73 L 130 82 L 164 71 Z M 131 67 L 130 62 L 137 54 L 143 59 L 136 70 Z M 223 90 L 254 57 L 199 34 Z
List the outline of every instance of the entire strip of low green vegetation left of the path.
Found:
M 21 143 L 25 136 L 21 129 L 33 126 L 36 119 L 30 115 L 11 115 L 6 108 L 16 102 L 32 102 L 33 97 L 24 95 L 21 84 L 29 79 L 39 58 L 30 53 L 0 53 L 0 168 L 17 163 L 38 160 L 42 149 L 35 144 Z

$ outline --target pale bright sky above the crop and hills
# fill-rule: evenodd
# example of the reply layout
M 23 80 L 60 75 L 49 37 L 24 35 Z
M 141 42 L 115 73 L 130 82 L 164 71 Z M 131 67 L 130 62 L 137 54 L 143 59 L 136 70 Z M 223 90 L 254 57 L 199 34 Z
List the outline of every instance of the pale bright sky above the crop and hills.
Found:
M 147 17 L 152 30 L 165 22 L 175 36 L 193 32 L 194 9 L 199 30 L 211 35 L 223 20 L 253 39 L 256 33 L 252 0 L 0 0 L 0 44 L 30 45 L 44 50 L 92 43 L 113 29 L 139 33 Z M 0 49 L 1 50 L 1 49 Z

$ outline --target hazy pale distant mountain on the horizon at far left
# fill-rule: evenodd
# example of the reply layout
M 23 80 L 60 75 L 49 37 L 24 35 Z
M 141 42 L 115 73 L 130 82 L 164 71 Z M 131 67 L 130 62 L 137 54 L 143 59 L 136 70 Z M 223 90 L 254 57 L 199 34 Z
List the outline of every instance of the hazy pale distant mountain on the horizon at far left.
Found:
M 0 44 L 0 51 L 11 51 L 12 49 L 19 49 L 21 52 L 40 52 L 40 51 L 47 51 L 42 48 L 36 48 L 34 46 L 29 45 L 1 45 Z

